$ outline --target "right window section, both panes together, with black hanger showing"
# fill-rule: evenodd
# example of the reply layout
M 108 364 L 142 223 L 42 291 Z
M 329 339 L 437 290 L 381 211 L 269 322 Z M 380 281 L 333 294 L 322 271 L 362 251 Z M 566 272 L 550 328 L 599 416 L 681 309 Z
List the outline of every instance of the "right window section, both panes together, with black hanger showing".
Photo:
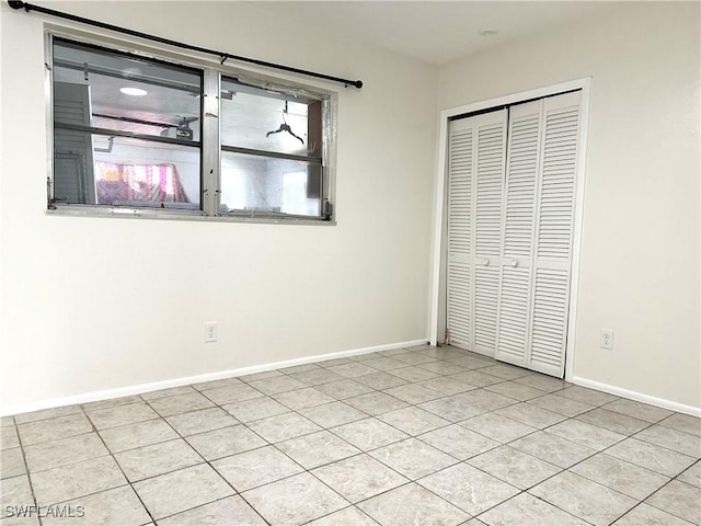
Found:
M 221 91 L 221 208 L 321 214 L 322 102 L 226 78 Z

